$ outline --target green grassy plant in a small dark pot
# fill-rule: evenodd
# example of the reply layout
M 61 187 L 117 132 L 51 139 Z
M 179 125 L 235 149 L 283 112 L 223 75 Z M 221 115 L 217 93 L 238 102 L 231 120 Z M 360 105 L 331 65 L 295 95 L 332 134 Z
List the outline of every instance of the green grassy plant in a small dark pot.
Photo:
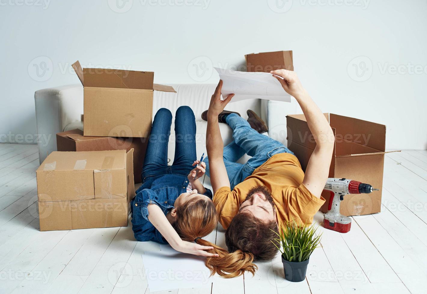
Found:
M 305 279 L 310 255 L 320 244 L 317 228 L 298 226 L 295 221 L 281 227 L 276 233 L 278 238 L 271 242 L 279 249 L 282 256 L 285 279 L 291 282 L 301 282 Z

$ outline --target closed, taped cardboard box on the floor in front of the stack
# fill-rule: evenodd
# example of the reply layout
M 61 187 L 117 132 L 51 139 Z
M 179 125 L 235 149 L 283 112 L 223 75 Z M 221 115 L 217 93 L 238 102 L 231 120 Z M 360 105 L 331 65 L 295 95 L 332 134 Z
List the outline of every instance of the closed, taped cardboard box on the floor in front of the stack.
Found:
M 127 226 L 132 155 L 132 149 L 50 153 L 36 170 L 40 231 Z

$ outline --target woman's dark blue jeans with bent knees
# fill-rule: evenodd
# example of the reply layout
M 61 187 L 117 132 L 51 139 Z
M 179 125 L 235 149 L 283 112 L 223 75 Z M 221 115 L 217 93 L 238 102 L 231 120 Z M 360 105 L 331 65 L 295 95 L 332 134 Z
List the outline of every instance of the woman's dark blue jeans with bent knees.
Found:
M 172 113 L 166 108 L 158 110 L 154 116 L 149 142 L 142 168 L 142 179 L 165 174 L 177 174 L 187 177 L 196 160 L 196 119 L 193 110 L 181 106 L 175 114 L 175 159 L 167 164 L 167 146 L 169 143 Z

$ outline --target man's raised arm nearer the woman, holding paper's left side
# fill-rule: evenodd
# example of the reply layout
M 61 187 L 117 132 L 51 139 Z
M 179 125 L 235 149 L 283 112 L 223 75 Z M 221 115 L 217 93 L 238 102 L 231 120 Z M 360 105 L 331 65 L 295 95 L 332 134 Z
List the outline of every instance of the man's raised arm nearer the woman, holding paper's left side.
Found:
M 218 115 L 224 110 L 225 105 L 230 102 L 234 94 L 230 94 L 221 100 L 221 87 L 222 81 L 219 81 L 215 93 L 212 95 L 211 104 L 209 104 L 208 128 L 206 130 L 206 151 L 208 152 L 211 185 L 214 194 L 220 187 L 230 187 L 224 159 L 222 159 L 224 143 L 219 131 Z

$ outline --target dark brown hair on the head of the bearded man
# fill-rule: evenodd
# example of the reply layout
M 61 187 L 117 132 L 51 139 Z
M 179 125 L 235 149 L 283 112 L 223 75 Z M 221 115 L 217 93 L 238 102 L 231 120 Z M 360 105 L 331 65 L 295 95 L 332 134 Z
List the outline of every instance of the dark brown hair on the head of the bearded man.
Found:
M 263 222 L 250 212 L 237 213 L 225 232 L 225 244 L 229 252 L 241 250 L 254 255 L 254 260 L 271 260 L 278 249 L 270 241 L 277 238 L 277 223 Z

